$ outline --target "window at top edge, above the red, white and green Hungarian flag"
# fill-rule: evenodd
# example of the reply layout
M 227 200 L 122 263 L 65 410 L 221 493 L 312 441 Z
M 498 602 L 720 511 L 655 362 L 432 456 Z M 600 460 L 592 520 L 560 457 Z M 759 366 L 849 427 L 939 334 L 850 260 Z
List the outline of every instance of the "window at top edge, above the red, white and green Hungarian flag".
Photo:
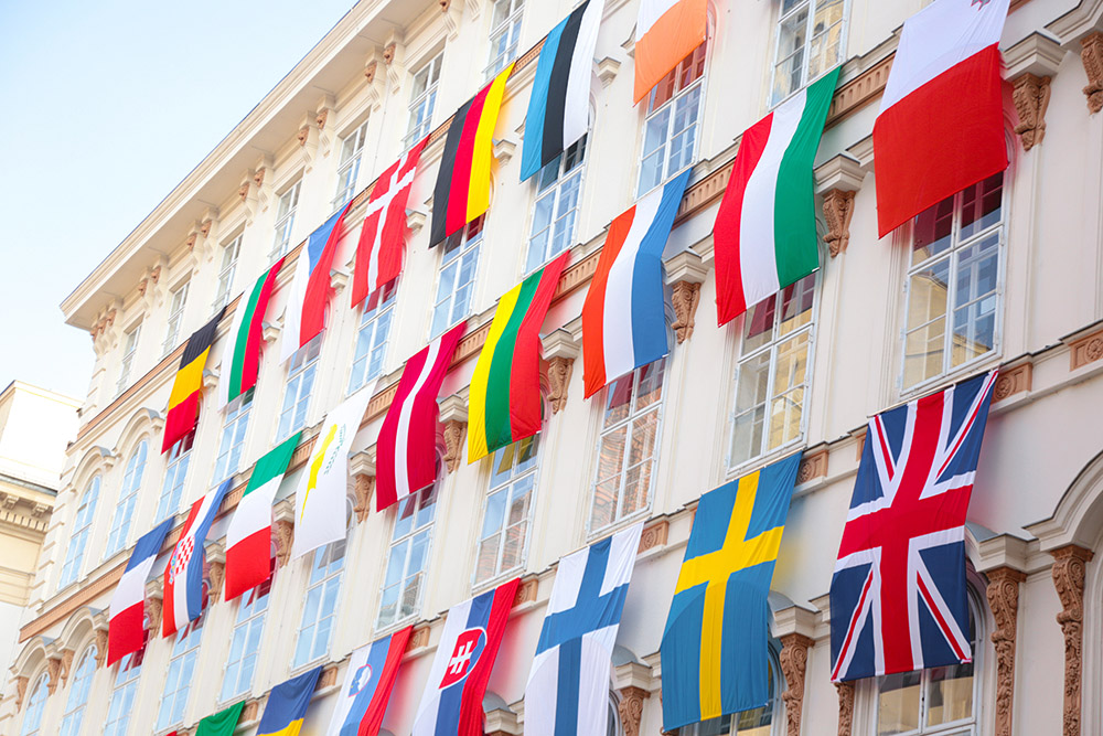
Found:
M 843 60 L 845 15 L 846 0 L 782 0 L 771 106 Z

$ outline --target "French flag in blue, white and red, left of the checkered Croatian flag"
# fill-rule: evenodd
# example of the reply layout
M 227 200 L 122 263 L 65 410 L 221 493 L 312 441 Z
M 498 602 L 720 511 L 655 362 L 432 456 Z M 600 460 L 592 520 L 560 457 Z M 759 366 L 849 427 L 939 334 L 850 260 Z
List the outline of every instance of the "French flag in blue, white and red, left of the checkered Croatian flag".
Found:
M 107 665 L 110 666 L 131 652 L 137 652 L 146 641 L 146 580 L 161 552 L 164 537 L 172 529 L 165 519 L 138 540 L 122 577 L 111 594 L 110 619 L 107 623 Z M 156 622 L 150 622 L 150 627 Z

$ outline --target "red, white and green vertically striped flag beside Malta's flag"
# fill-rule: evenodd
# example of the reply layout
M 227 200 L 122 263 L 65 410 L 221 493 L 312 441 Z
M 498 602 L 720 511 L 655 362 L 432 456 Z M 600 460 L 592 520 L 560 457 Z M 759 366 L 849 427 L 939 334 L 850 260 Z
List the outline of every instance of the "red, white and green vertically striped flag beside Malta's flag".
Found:
M 820 267 L 812 169 L 837 79 L 828 72 L 743 132 L 713 227 L 719 324 Z

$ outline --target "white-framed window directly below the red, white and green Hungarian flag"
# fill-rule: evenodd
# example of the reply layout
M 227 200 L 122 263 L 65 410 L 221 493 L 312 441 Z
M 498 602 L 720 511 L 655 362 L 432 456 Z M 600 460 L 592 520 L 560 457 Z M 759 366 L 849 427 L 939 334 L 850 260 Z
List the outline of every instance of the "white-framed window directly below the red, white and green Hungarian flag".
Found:
M 775 450 L 804 434 L 815 295 L 813 274 L 743 314 L 730 467 Z

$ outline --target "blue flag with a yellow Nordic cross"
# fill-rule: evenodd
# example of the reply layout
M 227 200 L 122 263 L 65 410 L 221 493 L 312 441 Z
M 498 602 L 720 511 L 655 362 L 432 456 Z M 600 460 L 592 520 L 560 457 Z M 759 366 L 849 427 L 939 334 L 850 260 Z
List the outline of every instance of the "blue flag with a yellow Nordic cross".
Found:
M 660 658 L 663 730 L 770 700 L 770 580 L 801 456 L 700 497 Z

